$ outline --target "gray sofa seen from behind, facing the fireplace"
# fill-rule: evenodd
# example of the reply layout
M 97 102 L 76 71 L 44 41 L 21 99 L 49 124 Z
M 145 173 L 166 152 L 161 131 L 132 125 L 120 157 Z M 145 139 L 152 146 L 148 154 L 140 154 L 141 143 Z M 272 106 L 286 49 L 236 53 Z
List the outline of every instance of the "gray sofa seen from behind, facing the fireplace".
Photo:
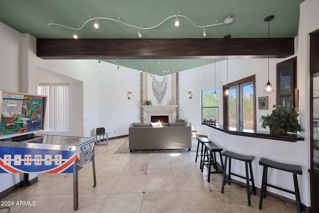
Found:
M 191 148 L 191 124 L 178 123 L 133 123 L 129 127 L 129 148 L 174 149 Z

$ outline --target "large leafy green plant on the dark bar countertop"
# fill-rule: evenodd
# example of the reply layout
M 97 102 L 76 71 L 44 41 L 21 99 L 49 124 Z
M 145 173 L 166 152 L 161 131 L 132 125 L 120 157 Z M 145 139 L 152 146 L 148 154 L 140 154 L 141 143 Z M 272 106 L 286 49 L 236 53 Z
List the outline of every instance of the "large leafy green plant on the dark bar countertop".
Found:
M 287 132 L 302 132 L 298 122 L 299 108 L 287 108 L 283 105 L 273 105 L 273 111 L 270 115 L 262 116 L 262 128 L 269 126 L 272 135 L 287 135 Z

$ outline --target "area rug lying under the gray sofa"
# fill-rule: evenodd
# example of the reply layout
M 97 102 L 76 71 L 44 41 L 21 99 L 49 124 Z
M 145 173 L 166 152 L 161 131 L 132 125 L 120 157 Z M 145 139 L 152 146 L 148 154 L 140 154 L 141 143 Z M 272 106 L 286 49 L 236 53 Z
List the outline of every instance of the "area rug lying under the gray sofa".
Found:
M 197 150 L 197 139 L 191 138 L 191 148 L 190 151 Z M 152 153 L 152 152 L 184 152 L 188 151 L 188 148 L 176 148 L 176 149 L 143 149 L 143 150 L 133 150 L 132 153 Z M 129 149 L 129 138 L 123 142 L 123 144 L 118 148 L 115 154 L 118 153 L 130 153 Z

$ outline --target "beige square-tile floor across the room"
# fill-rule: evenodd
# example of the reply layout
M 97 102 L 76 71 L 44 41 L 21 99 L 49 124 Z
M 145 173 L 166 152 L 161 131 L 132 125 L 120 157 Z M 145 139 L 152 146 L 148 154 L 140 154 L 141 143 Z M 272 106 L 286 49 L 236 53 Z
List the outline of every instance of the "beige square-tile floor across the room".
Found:
M 114 154 L 127 138 L 96 146 L 97 186 L 92 163 L 79 171 L 77 213 L 293 213 L 295 207 L 267 197 L 258 209 L 259 194 L 247 205 L 245 189 L 226 185 L 222 174 L 201 173 L 196 152 Z M 73 175 L 38 174 L 38 182 L 18 189 L 1 201 L 30 201 L 34 206 L 12 206 L 10 213 L 74 213 Z M 0 206 L 2 208 L 3 206 Z M 7 213 L 7 209 L 0 209 Z

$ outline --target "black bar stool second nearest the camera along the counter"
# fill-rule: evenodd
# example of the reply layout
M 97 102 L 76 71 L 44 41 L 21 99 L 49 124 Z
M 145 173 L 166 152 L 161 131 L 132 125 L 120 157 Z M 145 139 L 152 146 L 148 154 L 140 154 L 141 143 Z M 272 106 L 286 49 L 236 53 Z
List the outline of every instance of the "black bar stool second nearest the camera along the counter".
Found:
M 231 151 L 224 151 L 223 156 L 225 156 L 225 165 L 224 165 L 224 172 L 223 172 L 223 182 L 221 185 L 221 193 L 224 193 L 224 186 L 225 183 L 228 182 L 228 185 L 230 185 L 230 183 L 234 183 L 238 186 L 241 187 L 245 187 L 247 189 L 247 197 L 248 197 L 248 205 L 251 205 L 250 202 L 250 195 L 253 193 L 254 195 L 256 195 L 256 188 L 255 188 L 255 183 L 254 183 L 254 176 L 253 176 L 253 170 L 251 167 L 251 162 L 255 159 L 254 156 L 249 156 L 249 155 L 243 155 L 243 154 L 237 154 L 235 152 L 231 152 Z M 226 179 L 226 169 L 227 169 L 227 160 L 229 158 L 229 164 L 228 164 L 228 179 Z M 234 174 L 231 172 L 231 159 L 236 159 L 236 160 L 240 160 L 240 161 L 244 161 L 245 162 L 245 167 L 246 167 L 246 177 L 238 175 L 238 174 Z M 250 172 L 250 178 L 249 178 L 249 173 L 248 173 L 248 165 L 249 165 L 249 172 Z M 243 179 L 246 179 L 246 185 L 238 183 L 238 182 L 234 182 L 231 180 L 231 175 L 235 175 L 236 177 L 240 177 Z M 249 181 L 251 181 L 251 185 L 252 185 L 252 190 L 250 190 L 250 185 L 249 185 Z

